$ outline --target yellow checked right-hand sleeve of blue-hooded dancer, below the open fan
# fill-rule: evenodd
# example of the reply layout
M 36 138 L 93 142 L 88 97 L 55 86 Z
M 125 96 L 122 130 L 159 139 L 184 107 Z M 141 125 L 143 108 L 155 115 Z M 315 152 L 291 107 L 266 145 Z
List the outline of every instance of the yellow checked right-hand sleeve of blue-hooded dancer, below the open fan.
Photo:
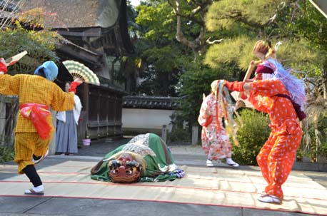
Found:
M 65 111 L 74 109 L 74 93 L 66 93 L 54 85 L 54 91 L 52 91 L 51 108 L 56 111 Z

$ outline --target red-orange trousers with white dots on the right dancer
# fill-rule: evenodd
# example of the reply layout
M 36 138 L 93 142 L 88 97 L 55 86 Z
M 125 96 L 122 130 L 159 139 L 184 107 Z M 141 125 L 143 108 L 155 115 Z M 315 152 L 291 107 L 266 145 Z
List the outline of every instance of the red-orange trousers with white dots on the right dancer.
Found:
M 283 199 L 281 185 L 291 173 L 301 138 L 302 130 L 299 125 L 292 134 L 287 130 L 271 130 L 268 140 L 256 157 L 263 178 L 268 183 L 265 188 L 267 194 Z

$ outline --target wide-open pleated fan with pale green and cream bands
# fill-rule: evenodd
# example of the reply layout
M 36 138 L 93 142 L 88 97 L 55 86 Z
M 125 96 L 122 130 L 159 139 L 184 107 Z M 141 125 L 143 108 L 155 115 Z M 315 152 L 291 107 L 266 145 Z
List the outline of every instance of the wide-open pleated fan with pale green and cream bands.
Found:
M 99 78 L 90 68 L 84 66 L 84 64 L 72 60 L 63 61 L 63 64 L 74 79 L 80 78 L 84 83 L 100 86 Z

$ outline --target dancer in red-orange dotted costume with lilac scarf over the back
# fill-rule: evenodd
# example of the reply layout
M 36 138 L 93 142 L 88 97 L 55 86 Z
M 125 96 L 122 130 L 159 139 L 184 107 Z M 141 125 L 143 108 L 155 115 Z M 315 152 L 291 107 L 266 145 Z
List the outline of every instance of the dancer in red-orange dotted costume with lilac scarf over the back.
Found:
M 281 185 L 291 173 L 296 150 L 301 143 L 299 120 L 305 118 L 305 86 L 276 60 L 275 51 L 264 41 L 258 41 L 253 53 L 261 59 L 254 81 L 228 82 L 231 91 L 246 91 L 249 101 L 271 119 L 271 134 L 257 155 L 258 165 L 268 185 L 258 197 L 261 202 L 281 204 Z M 251 61 L 253 66 L 254 61 Z M 297 119 L 298 118 L 298 119 Z

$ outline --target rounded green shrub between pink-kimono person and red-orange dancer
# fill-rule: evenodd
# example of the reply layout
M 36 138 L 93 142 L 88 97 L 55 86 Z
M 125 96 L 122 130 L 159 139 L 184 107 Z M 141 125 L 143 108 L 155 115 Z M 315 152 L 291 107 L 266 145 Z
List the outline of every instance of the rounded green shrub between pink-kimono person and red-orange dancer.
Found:
M 241 110 L 240 115 L 243 121 L 243 126 L 238 122 L 237 138 L 240 145 L 233 146 L 233 159 L 241 165 L 258 165 L 256 155 L 271 132 L 268 127 L 270 120 L 265 113 L 251 109 Z

